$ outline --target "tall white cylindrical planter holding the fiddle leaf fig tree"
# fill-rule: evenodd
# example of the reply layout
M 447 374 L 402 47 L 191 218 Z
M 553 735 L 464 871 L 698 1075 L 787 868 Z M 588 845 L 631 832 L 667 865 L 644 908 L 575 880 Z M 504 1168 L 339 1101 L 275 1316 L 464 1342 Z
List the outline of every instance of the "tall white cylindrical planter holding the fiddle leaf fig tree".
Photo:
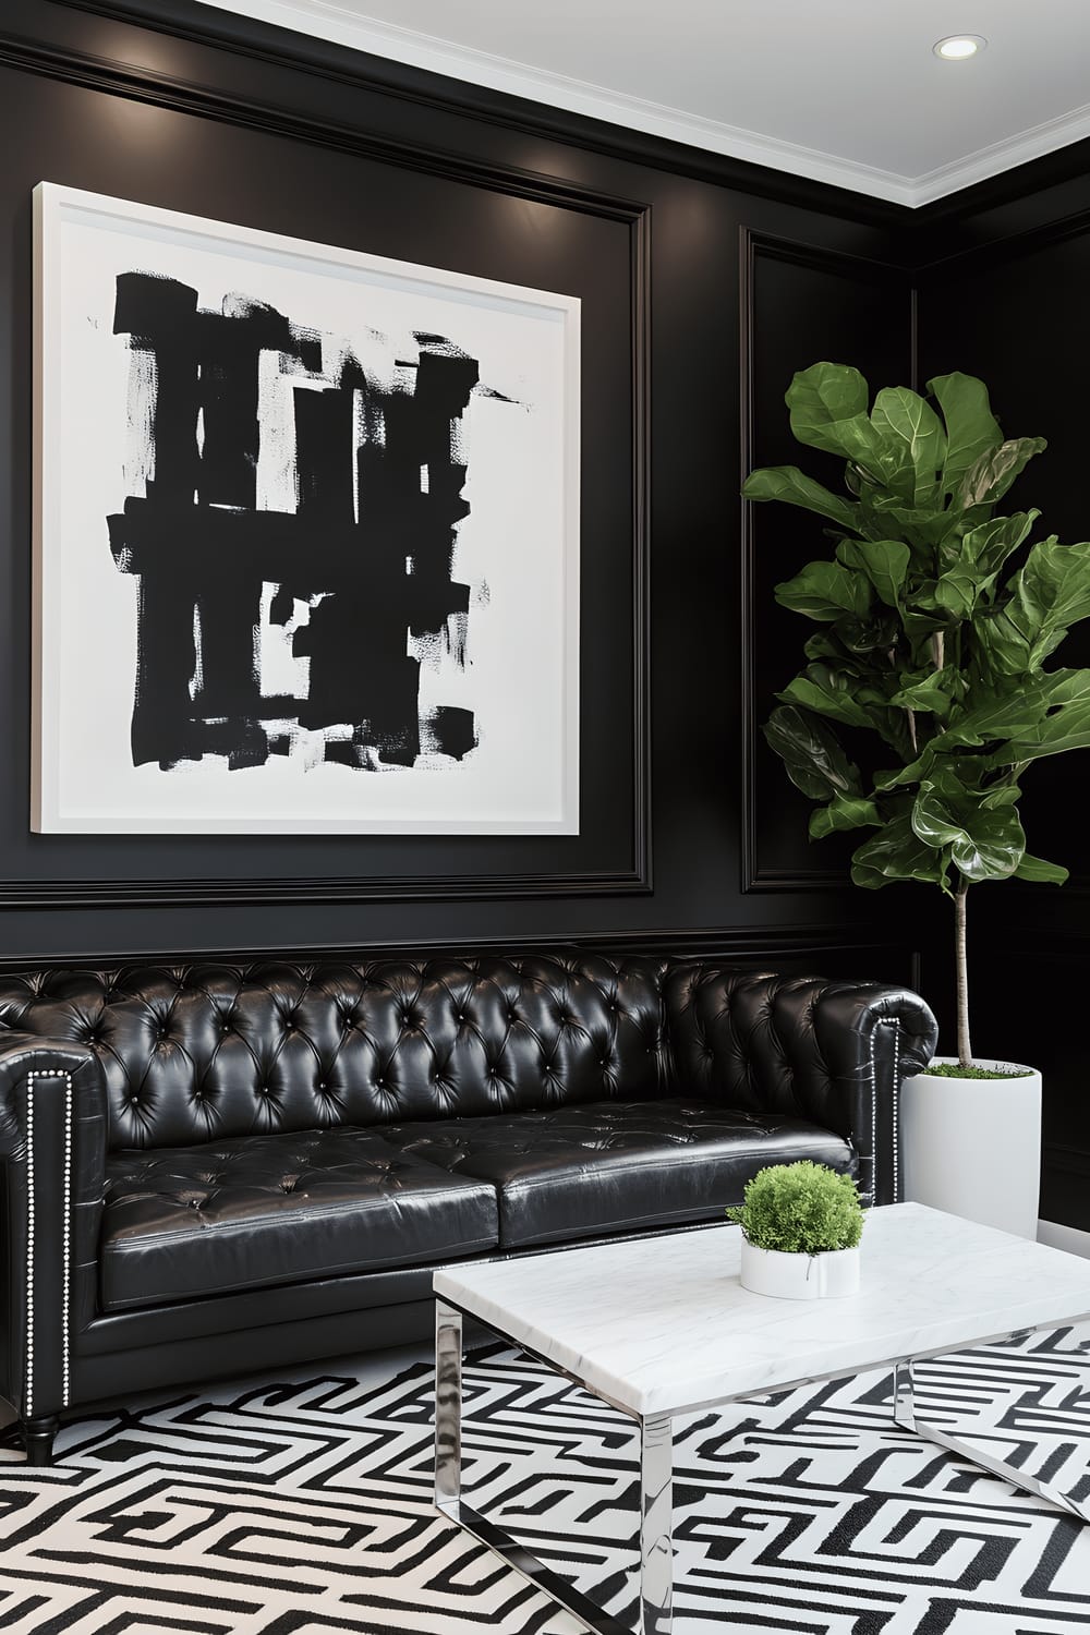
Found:
M 1020 1238 L 1036 1238 L 1041 1074 L 1010 1061 L 977 1066 L 1010 1069 L 1020 1077 L 949 1079 L 917 1073 L 904 1081 L 904 1197 Z

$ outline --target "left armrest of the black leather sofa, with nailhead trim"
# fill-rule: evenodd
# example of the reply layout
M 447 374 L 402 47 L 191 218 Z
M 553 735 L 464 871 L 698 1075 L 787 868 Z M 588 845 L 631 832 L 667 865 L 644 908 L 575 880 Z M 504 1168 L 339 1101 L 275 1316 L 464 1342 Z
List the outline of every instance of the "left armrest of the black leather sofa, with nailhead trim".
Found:
M 67 1406 L 72 1336 L 95 1306 L 105 1176 L 106 1086 L 95 1051 L 0 1032 L 0 1396 L 23 1419 Z

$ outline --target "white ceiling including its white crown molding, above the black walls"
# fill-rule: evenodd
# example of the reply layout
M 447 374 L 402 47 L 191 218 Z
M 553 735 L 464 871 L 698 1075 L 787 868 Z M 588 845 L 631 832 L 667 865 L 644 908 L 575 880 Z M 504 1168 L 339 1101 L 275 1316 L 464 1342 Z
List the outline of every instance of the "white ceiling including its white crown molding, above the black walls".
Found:
M 1090 0 L 204 3 L 899 204 L 1090 136 Z

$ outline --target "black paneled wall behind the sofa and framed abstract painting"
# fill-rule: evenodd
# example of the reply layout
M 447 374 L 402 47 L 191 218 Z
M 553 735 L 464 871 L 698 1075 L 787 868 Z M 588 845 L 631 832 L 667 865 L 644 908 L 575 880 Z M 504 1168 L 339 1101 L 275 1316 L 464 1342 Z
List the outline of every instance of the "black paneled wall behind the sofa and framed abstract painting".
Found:
M 0 960 L 580 937 L 914 981 L 943 1010 L 938 894 L 850 888 L 847 849 L 809 845 L 807 803 L 760 737 L 806 634 L 771 585 L 822 544 L 801 513 L 744 515 L 739 487 L 752 464 L 797 458 L 794 370 L 837 358 L 876 386 L 914 383 L 920 340 L 920 379 L 979 371 L 1012 428 L 1054 438 L 1034 495 L 1077 535 L 1090 244 L 998 249 L 1087 206 L 1077 165 L 912 216 L 190 0 L 5 0 L 0 154 Z M 41 180 L 580 296 L 579 837 L 29 834 Z M 1079 873 L 1072 780 L 1043 768 L 1026 816 L 1034 849 Z M 979 1050 L 1039 1061 L 1052 1149 L 1062 1130 L 1090 1153 L 1070 1014 L 1085 886 L 994 899 L 1016 935 L 979 934 Z M 1056 994 L 1067 1020 L 1043 1041 Z M 1046 1213 L 1079 1225 L 1059 1169 L 1049 1189 Z

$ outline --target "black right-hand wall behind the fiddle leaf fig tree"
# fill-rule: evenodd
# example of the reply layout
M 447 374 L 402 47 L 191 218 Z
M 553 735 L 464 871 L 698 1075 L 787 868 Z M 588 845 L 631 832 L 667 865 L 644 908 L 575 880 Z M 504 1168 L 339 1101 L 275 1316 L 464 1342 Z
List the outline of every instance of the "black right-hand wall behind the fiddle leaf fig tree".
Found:
M 1003 178 L 918 222 L 920 374 L 982 376 L 1008 437 L 1046 437 L 1012 508 L 1039 507 L 1038 535 L 1090 540 L 1090 146 Z M 1090 665 L 1075 628 L 1057 664 Z M 1043 1213 L 1090 1230 L 1090 754 L 1038 762 L 1023 780 L 1030 850 L 1064 863 L 1062 888 L 1002 881 L 969 894 L 974 1051 L 1044 1073 Z M 948 992 L 946 961 L 925 961 L 927 991 Z

